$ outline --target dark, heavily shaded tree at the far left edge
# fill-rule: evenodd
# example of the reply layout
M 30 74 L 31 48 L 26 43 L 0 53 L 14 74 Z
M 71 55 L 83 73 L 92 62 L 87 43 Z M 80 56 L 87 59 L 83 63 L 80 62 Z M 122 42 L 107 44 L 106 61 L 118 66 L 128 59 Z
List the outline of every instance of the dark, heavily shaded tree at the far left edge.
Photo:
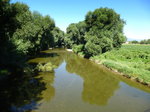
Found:
M 1 68 L 8 64 L 14 64 L 18 58 L 16 47 L 10 41 L 12 35 L 17 29 L 16 16 L 17 12 L 10 4 L 9 0 L 0 1 L 0 65 Z M 18 62 L 19 63 L 19 62 Z

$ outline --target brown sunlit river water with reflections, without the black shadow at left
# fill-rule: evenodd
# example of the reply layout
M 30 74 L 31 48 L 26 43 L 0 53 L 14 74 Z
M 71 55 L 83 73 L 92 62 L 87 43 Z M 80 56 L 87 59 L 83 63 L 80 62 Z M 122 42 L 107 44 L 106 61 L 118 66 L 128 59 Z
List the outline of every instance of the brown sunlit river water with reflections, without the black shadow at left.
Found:
M 29 62 L 57 67 L 37 76 L 46 89 L 32 112 L 150 112 L 150 88 L 65 50 L 44 53 Z

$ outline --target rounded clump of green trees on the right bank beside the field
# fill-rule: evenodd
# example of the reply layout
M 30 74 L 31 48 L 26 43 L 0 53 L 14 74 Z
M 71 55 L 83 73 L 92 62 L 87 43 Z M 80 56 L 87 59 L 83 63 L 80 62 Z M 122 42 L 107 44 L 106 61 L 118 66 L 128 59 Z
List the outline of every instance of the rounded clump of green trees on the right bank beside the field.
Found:
M 68 26 L 64 39 L 66 47 L 87 58 L 119 48 L 126 41 L 124 24 L 113 9 L 90 11 L 85 20 Z

